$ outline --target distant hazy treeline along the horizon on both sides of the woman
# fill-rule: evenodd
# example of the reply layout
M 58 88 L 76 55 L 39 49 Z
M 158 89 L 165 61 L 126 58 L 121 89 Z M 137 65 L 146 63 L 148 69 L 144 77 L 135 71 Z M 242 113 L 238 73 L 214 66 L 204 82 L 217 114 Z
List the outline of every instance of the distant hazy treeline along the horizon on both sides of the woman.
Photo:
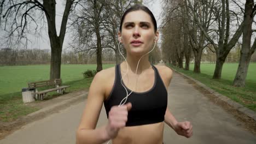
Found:
M 241 47 L 237 45 L 236 49 L 232 49 L 225 62 L 237 63 L 240 58 Z M 50 64 L 50 50 L 44 49 L 1 49 L 0 65 L 31 65 L 31 64 Z M 194 63 L 193 53 L 190 63 Z M 154 51 L 149 54 L 149 61 L 157 64 L 161 61 L 161 51 L 159 47 L 155 47 Z M 252 62 L 256 62 L 256 53 L 252 56 Z M 216 54 L 206 47 L 202 52 L 201 62 L 215 63 Z M 64 49 L 61 55 L 61 64 L 95 64 L 97 63 L 97 55 L 94 51 L 77 52 Z M 112 50 L 102 51 L 102 63 L 116 63 L 116 56 Z

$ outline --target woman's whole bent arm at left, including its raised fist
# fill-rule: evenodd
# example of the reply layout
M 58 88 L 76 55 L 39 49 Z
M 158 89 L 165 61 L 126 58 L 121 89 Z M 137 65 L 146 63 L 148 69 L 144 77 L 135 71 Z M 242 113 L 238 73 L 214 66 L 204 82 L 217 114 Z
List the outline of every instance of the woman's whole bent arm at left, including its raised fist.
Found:
M 113 70 L 102 70 L 96 74 L 91 83 L 87 104 L 85 105 L 82 120 L 77 130 L 77 144 L 80 143 L 103 143 L 114 139 L 118 131 L 125 127 L 128 111 L 131 109 L 131 103 L 122 106 L 112 106 L 108 113 L 108 122 L 103 127 L 95 129 L 100 116 L 104 95 L 112 88 L 110 78 Z M 113 79 L 114 83 L 114 79 Z

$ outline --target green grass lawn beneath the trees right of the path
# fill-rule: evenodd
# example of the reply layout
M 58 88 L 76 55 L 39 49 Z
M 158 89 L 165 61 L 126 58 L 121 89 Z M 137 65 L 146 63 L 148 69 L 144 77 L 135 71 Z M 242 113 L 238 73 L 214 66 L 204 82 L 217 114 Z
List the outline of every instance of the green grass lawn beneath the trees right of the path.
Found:
M 222 70 L 222 79 L 212 79 L 215 64 L 201 64 L 201 74 L 193 73 L 194 64 L 190 64 L 190 70 L 186 71 L 177 67 L 172 68 L 193 77 L 204 83 L 215 91 L 226 95 L 226 97 L 237 101 L 238 103 L 256 111 L 256 63 L 249 64 L 246 77 L 246 87 L 233 87 L 232 82 L 236 75 L 238 63 L 224 63 Z

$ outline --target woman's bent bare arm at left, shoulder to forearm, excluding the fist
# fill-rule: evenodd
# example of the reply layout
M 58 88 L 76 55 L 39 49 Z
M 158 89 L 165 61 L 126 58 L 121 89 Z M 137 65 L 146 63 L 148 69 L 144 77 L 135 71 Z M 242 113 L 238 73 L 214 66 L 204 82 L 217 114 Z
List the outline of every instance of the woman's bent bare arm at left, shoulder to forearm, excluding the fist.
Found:
M 106 125 L 95 129 L 104 101 L 104 79 L 104 75 L 100 71 L 91 83 L 88 100 L 77 130 L 77 144 L 103 143 L 110 139 L 106 133 Z

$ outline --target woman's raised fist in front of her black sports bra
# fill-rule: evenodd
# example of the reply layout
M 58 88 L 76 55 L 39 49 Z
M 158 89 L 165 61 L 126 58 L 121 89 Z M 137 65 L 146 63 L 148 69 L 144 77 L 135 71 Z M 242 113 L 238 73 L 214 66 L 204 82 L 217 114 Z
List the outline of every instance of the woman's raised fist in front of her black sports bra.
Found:
M 119 129 L 125 127 L 128 111 L 131 110 L 131 107 L 131 103 L 111 107 L 108 113 L 108 124 L 106 127 L 109 139 L 114 139 L 118 135 Z

